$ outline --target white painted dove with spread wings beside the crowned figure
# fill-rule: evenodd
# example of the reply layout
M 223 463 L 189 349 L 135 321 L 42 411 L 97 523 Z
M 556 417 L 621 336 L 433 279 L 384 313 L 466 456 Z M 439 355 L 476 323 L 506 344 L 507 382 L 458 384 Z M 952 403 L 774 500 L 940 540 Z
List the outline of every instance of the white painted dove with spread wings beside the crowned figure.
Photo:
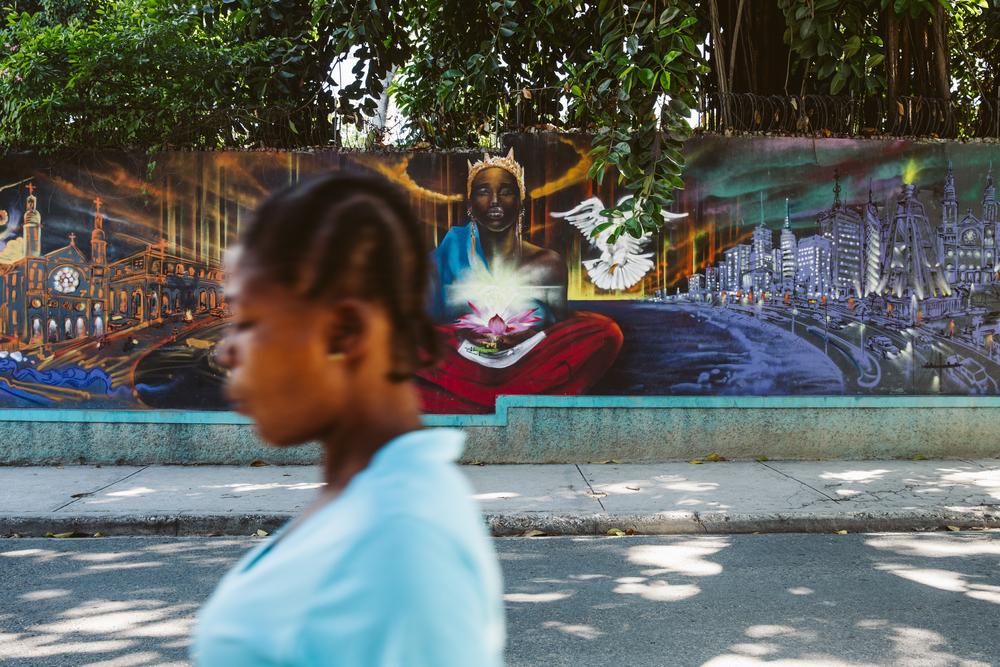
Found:
M 618 200 L 618 207 L 632 198 L 632 195 L 625 195 Z M 592 236 L 594 228 L 603 222 L 621 223 L 625 217 L 621 214 L 612 215 L 610 218 L 601 215 L 606 206 L 597 197 L 591 197 L 580 202 L 576 207 L 561 213 L 552 213 L 553 218 L 563 218 L 574 227 L 580 230 L 583 237 L 590 242 L 590 245 L 601 251 L 598 259 L 586 259 L 583 266 L 587 269 L 587 274 L 595 285 L 604 290 L 623 290 L 642 280 L 642 277 L 653 268 L 653 253 L 642 252 L 649 244 L 651 235 L 646 232 L 639 238 L 625 233 L 619 236 L 614 243 L 609 243 L 611 233 L 617 227 L 612 225 L 604 231 Z M 666 222 L 687 217 L 687 213 L 662 212 Z

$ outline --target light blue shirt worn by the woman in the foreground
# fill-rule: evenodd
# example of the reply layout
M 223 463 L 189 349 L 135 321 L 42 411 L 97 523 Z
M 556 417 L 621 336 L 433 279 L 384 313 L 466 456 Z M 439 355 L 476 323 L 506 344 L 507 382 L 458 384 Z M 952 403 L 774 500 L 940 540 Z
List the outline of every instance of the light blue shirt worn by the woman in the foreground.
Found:
M 195 665 L 502 665 L 500 568 L 454 464 L 464 438 L 390 441 L 335 500 L 248 553 L 198 614 Z

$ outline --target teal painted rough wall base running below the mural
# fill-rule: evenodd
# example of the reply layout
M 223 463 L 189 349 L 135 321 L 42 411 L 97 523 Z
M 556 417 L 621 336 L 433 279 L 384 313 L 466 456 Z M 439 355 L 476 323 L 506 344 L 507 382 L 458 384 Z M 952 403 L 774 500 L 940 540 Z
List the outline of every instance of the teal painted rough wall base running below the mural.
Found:
M 492 415 L 429 415 L 464 429 L 466 460 L 583 463 L 1000 457 L 997 397 L 505 396 Z M 263 445 L 227 412 L 0 410 L 0 464 L 315 463 L 315 445 Z

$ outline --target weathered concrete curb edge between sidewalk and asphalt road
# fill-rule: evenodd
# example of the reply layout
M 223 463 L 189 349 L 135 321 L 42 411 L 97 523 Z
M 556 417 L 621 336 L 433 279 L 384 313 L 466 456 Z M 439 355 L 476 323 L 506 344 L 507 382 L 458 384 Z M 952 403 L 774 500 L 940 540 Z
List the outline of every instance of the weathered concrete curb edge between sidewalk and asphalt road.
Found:
M 72 514 L 0 515 L 0 536 L 43 537 L 47 533 L 78 532 L 105 536 L 208 536 L 273 533 L 293 514 Z M 946 508 L 897 512 L 799 512 L 752 514 L 739 512 L 655 512 L 595 514 L 558 512 L 487 513 L 495 537 L 516 537 L 528 531 L 541 536 L 607 535 L 617 529 L 636 535 L 725 535 L 746 533 L 851 533 L 1000 528 L 1000 507 L 961 511 Z

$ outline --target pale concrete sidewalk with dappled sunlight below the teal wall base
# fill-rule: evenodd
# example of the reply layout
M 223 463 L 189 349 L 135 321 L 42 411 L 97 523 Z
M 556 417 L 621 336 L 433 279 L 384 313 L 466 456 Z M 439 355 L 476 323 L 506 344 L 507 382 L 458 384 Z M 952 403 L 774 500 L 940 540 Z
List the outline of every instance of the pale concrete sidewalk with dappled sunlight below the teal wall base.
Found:
M 996 459 L 462 470 L 498 536 L 1000 527 Z M 0 468 L 0 535 L 271 532 L 320 485 L 315 466 Z

